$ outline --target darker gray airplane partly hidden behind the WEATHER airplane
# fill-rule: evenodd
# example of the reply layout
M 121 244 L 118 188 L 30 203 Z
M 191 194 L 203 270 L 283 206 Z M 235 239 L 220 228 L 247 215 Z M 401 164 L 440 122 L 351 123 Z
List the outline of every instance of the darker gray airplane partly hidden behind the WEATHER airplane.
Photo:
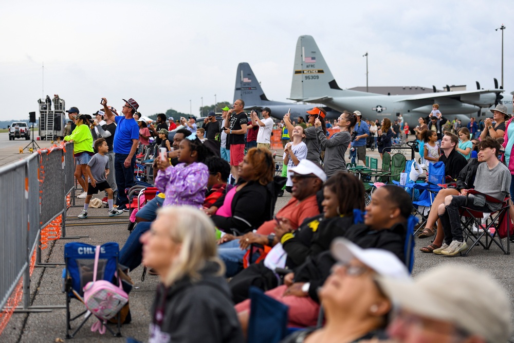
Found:
M 271 101 L 266 98 L 259 81 L 253 74 L 252 68 L 246 62 L 237 65 L 235 78 L 234 101 L 243 99 L 245 110 L 262 110 L 269 107 L 271 116 L 282 119 L 284 114 L 291 109 L 291 118 L 296 120 L 298 117 L 306 117 L 306 111 L 312 110 L 312 104 L 298 104 L 290 102 Z M 326 111 L 326 119 L 336 119 L 341 112 L 333 111 L 327 106 L 320 105 Z

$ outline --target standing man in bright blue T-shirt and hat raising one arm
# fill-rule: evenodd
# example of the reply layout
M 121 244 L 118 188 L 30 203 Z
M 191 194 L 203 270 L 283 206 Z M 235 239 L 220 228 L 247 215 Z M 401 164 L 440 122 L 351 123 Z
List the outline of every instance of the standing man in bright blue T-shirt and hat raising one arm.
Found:
M 107 118 L 116 122 L 114 134 L 114 170 L 116 173 L 116 185 L 118 196 L 116 205 L 118 210 L 128 212 L 128 198 L 126 188 L 134 186 L 134 164 L 136 163 L 136 148 L 139 143 L 139 127 L 133 115 L 137 112 L 139 104 L 130 98 L 125 101 L 121 116 L 115 116 L 107 107 L 107 99 L 102 98 L 102 105 Z

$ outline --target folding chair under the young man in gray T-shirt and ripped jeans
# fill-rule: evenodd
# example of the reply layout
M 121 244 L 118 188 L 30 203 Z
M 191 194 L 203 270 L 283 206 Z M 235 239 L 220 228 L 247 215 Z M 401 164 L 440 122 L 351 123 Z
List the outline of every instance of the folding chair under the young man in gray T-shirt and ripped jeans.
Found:
M 509 208 L 510 208 L 510 197 L 507 196 L 503 201 L 498 200 L 490 195 L 480 193 L 474 189 L 468 190 L 469 194 L 479 194 L 485 196 L 487 202 L 501 204 L 500 209 L 491 211 L 489 219 L 486 224 L 482 225 L 481 219 L 484 218 L 483 211 L 471 209 L 469 207 L 461 207 L 461 225 L 466 242 L 471 240 L 469 248 L 462 255 L 467 256 L 468 253 L 475 245 L 481 245 L 484 249 L 489 249 L 494 242 L 500 249 L 502 249 L 505 255 L 510 255 L 510 235 L 512 234 L 512 224 L 510 223 Z M 478 230 L 473 230 L 473 224 Z M 506 229 L 503 229 L 506 228 Z M 485 243 L 481 241 L 485 237 Z M 503 244 L 502 239 L 507 238 L 507 248 Z

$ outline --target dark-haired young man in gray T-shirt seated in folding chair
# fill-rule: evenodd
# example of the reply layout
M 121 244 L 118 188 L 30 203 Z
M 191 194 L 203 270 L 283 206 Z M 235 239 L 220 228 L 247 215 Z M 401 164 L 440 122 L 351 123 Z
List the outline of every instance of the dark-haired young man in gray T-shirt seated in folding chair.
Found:
M 509 195 L 511 176 L 509 169 L 498 160 L 500 143 L 487 137 L 480 142 L 479 148 L 479 161 L 485 163 L 479 165 L 476 170 L 475 190 L 503 202 Z M 494 212 L 501 208 L 501 203 L 488 202 L 484 195 L 466 194 L 467 191 L 462 190 L 461 195 L 449 195 L 445 198 L 445 203 L 439 205 L 439 218 L 445 232 L 443 246 L 436 249 L 440 250 L 441 255 L 454 256 L 468 247 L 462 233 L 460 207 L 465 206 L 481 212 Z

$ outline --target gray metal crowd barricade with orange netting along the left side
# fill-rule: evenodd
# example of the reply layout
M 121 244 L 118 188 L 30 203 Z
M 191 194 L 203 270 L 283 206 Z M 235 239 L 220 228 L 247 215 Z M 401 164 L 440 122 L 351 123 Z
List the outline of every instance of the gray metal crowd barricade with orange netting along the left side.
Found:
M 62 215 L 62 226 L 51 239 L 66 236 L 67 195 L 74 195 L 73 145 L 42 149 L 0 167 L 0 333 L 16 311 L 41 312 L 63 306 L 30 306 L 30 271 L 41 263 L 41 231 Z M 79 238 L 79 237 L 73 237 Z M 35 259 L 32 259 L 35 251 Z M 20 291 L 21 279 L 22 299 Z M 16 297 L 14 297 L 16 295 Z M 16 300 L 11 301 L 13 298 Z M 9 302 L 8 302 L 9 300 Z M 8 305 L 8 306 L 7 306 Z M 4 316 L 4 317 L 3 317 Z M 2 318 L 3 317 L 3 318 Z

